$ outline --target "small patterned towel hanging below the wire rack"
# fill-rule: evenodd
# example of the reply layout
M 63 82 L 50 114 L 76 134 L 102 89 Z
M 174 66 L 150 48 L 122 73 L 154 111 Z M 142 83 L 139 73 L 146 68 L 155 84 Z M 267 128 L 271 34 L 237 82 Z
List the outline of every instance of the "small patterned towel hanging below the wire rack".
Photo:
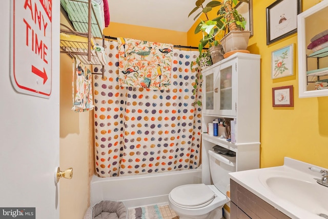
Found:
M 73 62 L 73 107 L 74 112 L 85 112 L 93 109 L 92 74 L 80 60 Z M 74 89 L 75 85 L 75 89 Z

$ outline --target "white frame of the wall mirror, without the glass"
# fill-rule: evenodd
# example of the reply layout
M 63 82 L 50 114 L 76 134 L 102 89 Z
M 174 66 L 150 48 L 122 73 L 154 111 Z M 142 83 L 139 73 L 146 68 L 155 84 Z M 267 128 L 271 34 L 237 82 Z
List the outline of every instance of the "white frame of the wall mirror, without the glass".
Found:
M 322 97 L 328 96 L 328 89 L 325 90 L 306 90 L 307 76 L 306 76 L 306 27 L 305 27 L 305 19 L 322 9 L 328 7 L 328 0 L 324 0 L 312 8 L 300 13 L 297 15 L 297 44 L 298 44 L 298 86 L 299 86 L 299 97 Z M 328 21 L 328 16 L 327 16 Z

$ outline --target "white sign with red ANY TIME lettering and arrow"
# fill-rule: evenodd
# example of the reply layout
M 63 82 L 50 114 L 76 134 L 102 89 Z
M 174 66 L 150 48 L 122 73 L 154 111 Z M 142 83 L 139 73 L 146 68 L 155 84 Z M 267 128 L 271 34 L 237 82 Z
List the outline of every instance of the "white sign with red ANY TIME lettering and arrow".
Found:
M 50 98 L 52 0 L 11 1 L 10 78 L 19 93 Z

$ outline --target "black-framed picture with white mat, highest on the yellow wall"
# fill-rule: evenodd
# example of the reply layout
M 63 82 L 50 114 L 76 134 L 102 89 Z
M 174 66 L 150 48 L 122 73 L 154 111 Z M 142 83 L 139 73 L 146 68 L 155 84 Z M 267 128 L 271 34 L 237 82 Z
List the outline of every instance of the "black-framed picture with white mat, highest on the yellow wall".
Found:
M 297 32 L 302 0 L 277 0 L 267 8 L 267 45 Z

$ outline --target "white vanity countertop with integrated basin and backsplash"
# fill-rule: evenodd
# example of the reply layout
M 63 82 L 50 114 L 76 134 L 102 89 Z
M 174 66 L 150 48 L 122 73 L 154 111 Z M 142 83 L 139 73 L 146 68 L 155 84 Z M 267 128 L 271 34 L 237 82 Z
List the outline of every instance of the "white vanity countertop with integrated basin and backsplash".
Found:
M 328 218 L 328 187 L 309 163 L 284 158 L 282 166 L 231 172 L 230 178 L 291 218 Z

